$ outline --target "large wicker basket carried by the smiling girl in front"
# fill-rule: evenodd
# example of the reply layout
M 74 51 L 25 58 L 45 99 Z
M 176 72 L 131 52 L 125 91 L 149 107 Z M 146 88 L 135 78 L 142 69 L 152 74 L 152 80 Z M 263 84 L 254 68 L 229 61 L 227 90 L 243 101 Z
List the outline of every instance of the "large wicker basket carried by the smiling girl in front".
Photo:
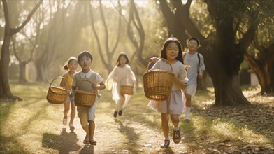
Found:
M 171 66 L 166 59 L 163 60 Z M 148 66 L 150 63 L 147 65 L 147 72 L 143 75 L 145 97 L 147 97 L 147 99 L 157 101 L 168 99 L 169 94 L 171 94 L 171 87 L 174 78 L 174 74 L 171 73 L 173 72 L 172 66 L 171 72 L 164 70 L 148 71 Z

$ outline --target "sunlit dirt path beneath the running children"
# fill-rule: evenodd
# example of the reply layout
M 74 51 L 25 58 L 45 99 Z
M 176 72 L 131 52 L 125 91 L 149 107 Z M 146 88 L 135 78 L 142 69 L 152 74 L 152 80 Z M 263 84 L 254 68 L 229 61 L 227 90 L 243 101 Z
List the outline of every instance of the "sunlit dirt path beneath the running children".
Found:
M 186 150 L 182 142 L 171 142 L 171 148 L 160 149 L 163 139 L 160 126 L 152 129 L 142 123 L 129 121 L 126 116 L 126 112 L 119 118 L 113 118 L 111 113 L 96 115 L 96 146 L 82 143 L 85 132 L 79 119 L 75 118 L 73 132 L 69 126 L 62 126 L 59 153 L 184 153 Z

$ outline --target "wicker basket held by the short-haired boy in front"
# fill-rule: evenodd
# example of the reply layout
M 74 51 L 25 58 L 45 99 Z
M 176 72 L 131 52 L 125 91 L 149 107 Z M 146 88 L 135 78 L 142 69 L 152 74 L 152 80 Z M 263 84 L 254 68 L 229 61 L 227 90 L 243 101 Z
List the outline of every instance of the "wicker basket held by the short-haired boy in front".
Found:
M 96 100 L 96 96 L 98 93 L 96 89 L 93 92 L 78 90 L 78 86 L 85 81 L 91 83 L 91 85 L 94 85 L 94 83 L 92 83 L 92 81 L 90 81 L 90 80 L 82 80 L 82 81 L 80 81 L 80 83 L 78 83 L 76 90 L 74 92 L 76 106 L 93 106 L 93 104 Z

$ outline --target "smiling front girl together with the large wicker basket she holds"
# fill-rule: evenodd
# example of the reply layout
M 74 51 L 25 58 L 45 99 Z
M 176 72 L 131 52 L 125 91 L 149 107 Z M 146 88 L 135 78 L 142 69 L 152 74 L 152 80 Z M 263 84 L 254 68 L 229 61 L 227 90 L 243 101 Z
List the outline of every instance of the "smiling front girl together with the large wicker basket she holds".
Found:
M 156 62 L 157 58 L 154 57 L 151 61 Z M 185 88 L 188 79 L 182 62 L 182 46 L 177 38 L 166 39 L 161 49 L 161 59 L 144 74 L 143 78 L 145 96 L 150 99 L 148 106 L 161 113 L 161 128 L 164 134 L 164 144 L 161 148 L 168 148 L 170 144 L 169 119 L 173 124 L 173 142 L 178 144 L 181 140 L 179 116 L 184 106 L 182 89 Z M 171 83 L 168 82 L 170 80 Z

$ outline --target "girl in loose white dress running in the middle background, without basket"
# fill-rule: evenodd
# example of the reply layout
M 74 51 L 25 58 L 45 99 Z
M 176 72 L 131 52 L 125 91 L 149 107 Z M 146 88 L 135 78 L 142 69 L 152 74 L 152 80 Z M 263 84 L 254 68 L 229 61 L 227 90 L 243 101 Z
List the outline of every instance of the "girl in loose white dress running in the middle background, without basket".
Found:
M 131 67 L 129 66 L 129 58 L 124 52 L 120 53 L 116 64 L 117 66 L 115 66 L 115 68 L 113 69 L 113 71 L 110 72 L 107 78 L 107 81 L 110 79 L 113 80 L 112 94 L 113 100 L 116 102 L 115 111 L 113 113 L 114 118 L 117 117 L 117 114 L 119 116 L 122 116 L 122 110 L 124 109 L 124 106 L 127 105 L 131 97 L 131 95 L 120 93 L 121 80 L 123 82 L 127 82 L 127 84 L 133 84 L 132 86 L 134 86 L 136 83 L 134 72 L 131 70 Z

